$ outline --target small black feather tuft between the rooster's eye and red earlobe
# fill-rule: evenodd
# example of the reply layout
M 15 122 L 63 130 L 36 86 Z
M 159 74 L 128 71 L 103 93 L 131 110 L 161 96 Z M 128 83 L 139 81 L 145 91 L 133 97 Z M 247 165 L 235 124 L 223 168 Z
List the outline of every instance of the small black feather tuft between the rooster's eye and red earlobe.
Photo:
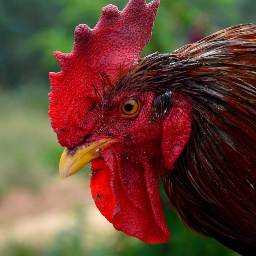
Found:
M 164 94 L 159 95 L 152 104 L 152 116 L 163 118 L 172 108 L 173 90 L 167 90 Z

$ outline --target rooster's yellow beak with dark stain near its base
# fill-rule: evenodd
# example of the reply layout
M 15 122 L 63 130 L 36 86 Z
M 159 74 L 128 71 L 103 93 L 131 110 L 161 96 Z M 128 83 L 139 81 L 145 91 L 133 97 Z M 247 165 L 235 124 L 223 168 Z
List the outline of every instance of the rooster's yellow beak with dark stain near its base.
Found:
M 100 150 L 111 141 L 117 139 L 101 139 L 88 144 L 81 144 L 76 148 L 65 148 L 60 157 L 60 178 L 71 176 L 86 164 L 100 157 Z

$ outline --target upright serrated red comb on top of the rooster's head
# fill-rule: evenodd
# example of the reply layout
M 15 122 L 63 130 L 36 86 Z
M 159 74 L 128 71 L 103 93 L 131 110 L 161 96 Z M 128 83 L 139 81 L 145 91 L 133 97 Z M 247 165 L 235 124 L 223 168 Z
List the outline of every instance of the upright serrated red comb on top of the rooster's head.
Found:
M 94 126 L 94 87 L 101 93 L 99 72 L 116 77 L 116 65 L 127 69 L 136 63 L 148 43 L 159 0 L 130 0 L 123 11 L 109 4 L 102 9 L 95 28 L 76 27 L 70 53 L 54 52 L 61 72 L 50 73 L 51 124 L 61 146 L 73 148 Z

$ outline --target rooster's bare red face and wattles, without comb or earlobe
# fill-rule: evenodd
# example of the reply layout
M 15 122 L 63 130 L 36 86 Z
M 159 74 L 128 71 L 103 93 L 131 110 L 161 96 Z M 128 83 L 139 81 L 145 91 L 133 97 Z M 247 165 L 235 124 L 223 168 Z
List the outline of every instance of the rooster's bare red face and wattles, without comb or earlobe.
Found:
M 140 109 L 132 117 L 120 110 L 120 98 L 127 97 L 139 100 Z M 101 113 L 88 140 L 109 134 L 119 139 L 102 148 L 101 158 L 92 162 L 92 197 L 117 230 L 150 244 L 170 239 L 158 188 L 158 177 L 166 171 L 159 161 L 163 121 L 150 123 L 153 99 L 152 92 L 116 97 L 118 103 Z

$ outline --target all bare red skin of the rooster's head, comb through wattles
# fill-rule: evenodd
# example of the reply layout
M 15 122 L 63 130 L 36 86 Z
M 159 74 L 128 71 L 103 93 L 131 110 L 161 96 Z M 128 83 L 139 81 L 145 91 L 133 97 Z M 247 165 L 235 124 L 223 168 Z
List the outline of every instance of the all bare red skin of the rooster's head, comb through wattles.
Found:
M 98 72 L 114 81 L 116 65 L 124 63 L 125 71 L 136 63 L 151 36 L 158 5 L 159 0 L 130 0 L 121 12 L 108 5 L 94 29 L 80 24 L 73 51 L 54 53 L 61 72 L 50 73 L 49 94 L 51 124 L 62 146 L 76 147 L 84 137 L 86 143 L 119 139 L 102 148 L 101 157 L 92 162 L 92 197 L 117 230 L 149 244 L 170 240 L 158 177 L 173 169 L 189 139 L 191 107 L 174 94 L 168 115 L 152 122 L 153 92 L 124 92 L 107 109 L 100 107 L 105 106 L 104 97 L 97 104 L 95 89 L 103 94 Z M 129 97 L 139 101 L 133 116 L 120 110 Z

